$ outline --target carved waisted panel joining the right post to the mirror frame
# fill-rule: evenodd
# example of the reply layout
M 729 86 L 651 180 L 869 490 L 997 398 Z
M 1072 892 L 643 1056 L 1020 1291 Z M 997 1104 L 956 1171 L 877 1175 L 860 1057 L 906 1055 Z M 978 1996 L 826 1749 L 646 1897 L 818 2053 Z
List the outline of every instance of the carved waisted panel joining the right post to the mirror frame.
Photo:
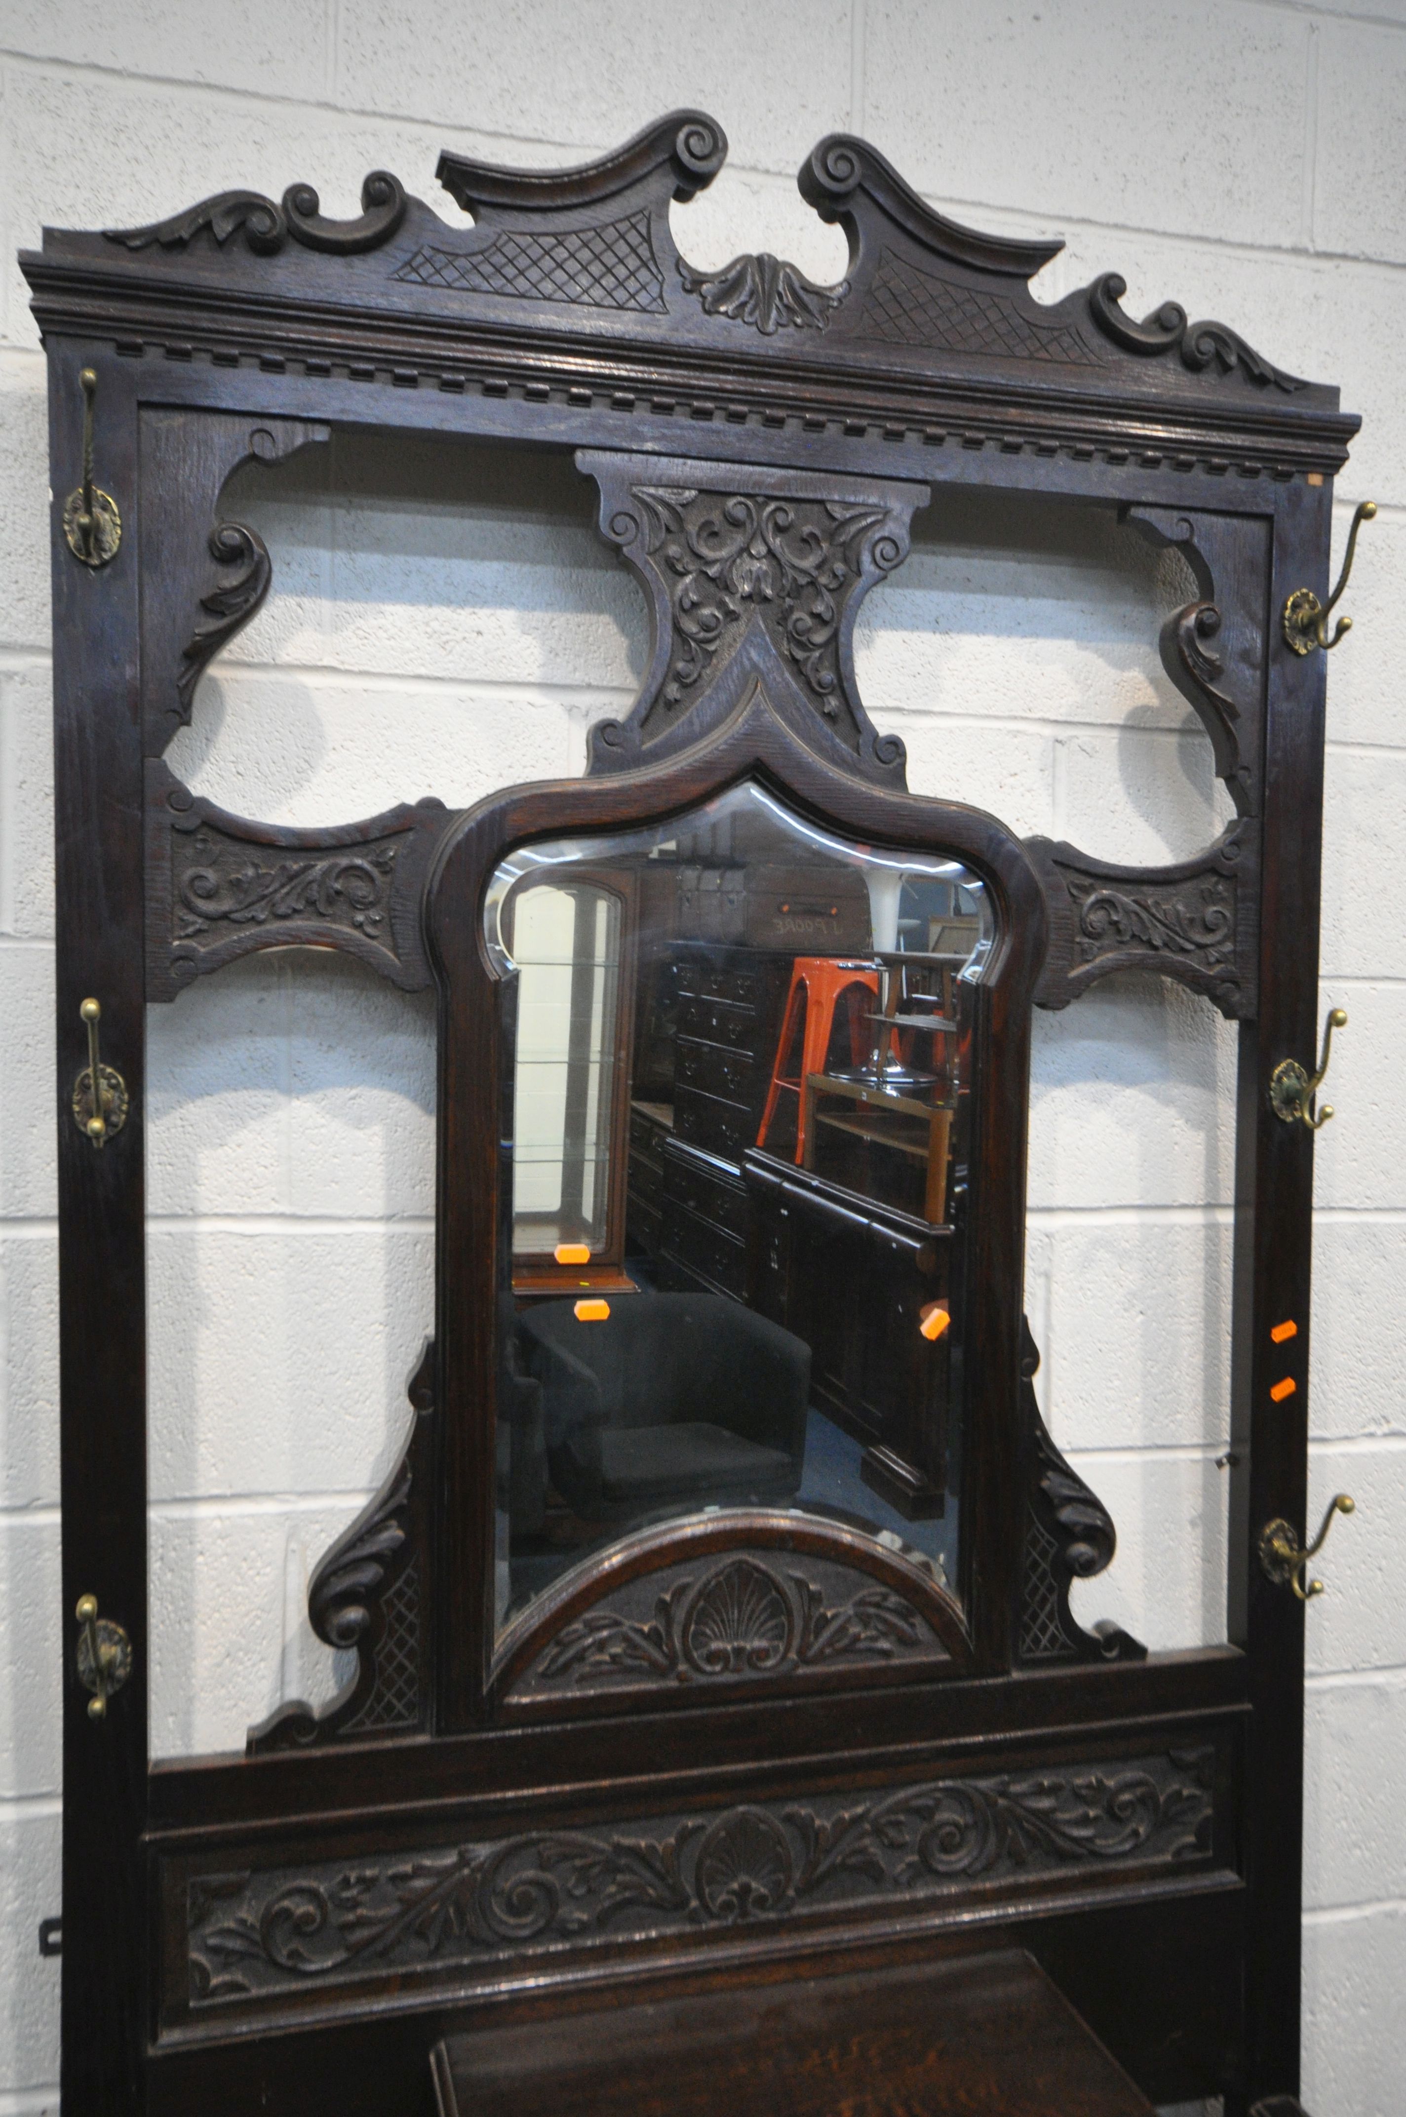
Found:
M 1232 1020 L 1258 1008 L 1260 826 L 1241 817 L 1196 860 L 1120 868 L 1027 838 L 1050 948 L 1035 1006 L 1067 1008 L 1112 970 L 1154 970 Z

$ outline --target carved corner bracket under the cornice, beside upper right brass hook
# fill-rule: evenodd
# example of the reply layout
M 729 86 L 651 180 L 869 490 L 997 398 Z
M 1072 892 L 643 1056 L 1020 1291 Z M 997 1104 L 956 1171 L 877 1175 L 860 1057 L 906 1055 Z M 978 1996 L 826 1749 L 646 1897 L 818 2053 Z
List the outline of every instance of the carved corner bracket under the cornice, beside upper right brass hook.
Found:
M 1254 514 L 1124 508 L 1150 544 L 1179 550 L 1196 599 L 1162 625 L 1162 667 L 1211 737 L 1215 777 L 1241 815 L 1260 815 L 1268 525 Z

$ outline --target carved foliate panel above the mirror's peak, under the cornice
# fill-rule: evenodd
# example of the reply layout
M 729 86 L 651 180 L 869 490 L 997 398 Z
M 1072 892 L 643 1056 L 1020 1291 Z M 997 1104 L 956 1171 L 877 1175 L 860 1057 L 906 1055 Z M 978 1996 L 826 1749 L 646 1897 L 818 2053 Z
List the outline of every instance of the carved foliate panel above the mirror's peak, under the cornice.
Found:
M 849 768 L 902 785 L 902 743 L 879 737 L 860 703 L 853 627 L 868 589 L 906 559 L 925 485 L 587 449 L 576 464 L 601 489 L 601 533 L 644 582 L 652 620 L 639 699 L 593 730 L 591 771 L 703 741 L 733 711 L 724 673 L 752 641 L 758 673 L 800 707 L 822 754 L 841 745 Z

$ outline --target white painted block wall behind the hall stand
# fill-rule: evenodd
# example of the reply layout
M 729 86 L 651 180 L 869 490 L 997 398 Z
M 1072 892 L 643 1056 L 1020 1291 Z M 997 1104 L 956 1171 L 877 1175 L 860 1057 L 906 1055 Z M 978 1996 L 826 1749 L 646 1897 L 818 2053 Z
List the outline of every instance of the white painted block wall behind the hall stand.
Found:
M 0 2117 L 55 2106 L 57 1376 L 51 1171 L 51 739 L 44 370 L 19 246 L 205 193 L 368 167 L 434 191 L 443 146 L 572 161 L 680 102 L 735 167 L 675 210 L 716 265 L 815 277 L 843 239 L 792 174 L 866 131 L 938 205 L 1063 231 L 1057 298 L 1095 271 L 1173 296 L 1366 430 L 1357 631 L 1330 686 L 1323 999 L 1351 1029 L 1319 1143 L 1313 1507 L 1332 1594 L 1309 1620 L 1304 2100 L 1395 2117 L 1406 2032 L 1406 6 L 1275 0 L 0 0 Z M 1370 19 L 1368 19 L 1370 17 Z M 102 140 L 95 165 L 74 140 Z M 275 557 L 258 620 L 174 743 L 250 815 L 339 821 L 572 773 L 644 661 L 639 593 L 570 466 L 337 442 L 246 472 Z M 542 472 L 546 476 L 542 478 Z M 963 544 L 966 548 L 959 548 Z M 875 720 L 913 783 L 1122 860 L 1224 817 L 1209 747 L 1156 665 L 1175 561 L 1063 508 L 940 500 L 860 629 Z M 1120 1528 L 1078 1590 L 1154 1645 L 1222 1636 L 1234 1037 L 1156 980 L 1035 1020 L 1029 1308 L 1054 1433 Z M 392 1461 L 430 1321 L 432 1006 L 360 967 L 263 957 L 150 1016 L 152 1744 L 237 1744 L 326 1696 L 307 1571 Z

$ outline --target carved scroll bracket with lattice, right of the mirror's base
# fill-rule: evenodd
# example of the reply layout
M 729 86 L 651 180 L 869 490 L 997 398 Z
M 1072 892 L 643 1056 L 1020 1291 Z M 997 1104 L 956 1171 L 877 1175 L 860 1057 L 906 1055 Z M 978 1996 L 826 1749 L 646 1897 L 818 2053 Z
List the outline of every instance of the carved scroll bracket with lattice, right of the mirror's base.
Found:
M 1076 1579 L 1093 1579 L 1118 1548 L 1103 1501 L 1069 1469 L 1050 1440 L 1035 1401 L 1040 1353 L 1021 1319 L 1021 1410 L 1029 1446 L 1025 1562 L 1016 1658 L 1027 1666 L 1050 1662 L 1146 1662 L 1148 1649 L 1110 1620 L 1086 1632 L 1069 1609 Z

